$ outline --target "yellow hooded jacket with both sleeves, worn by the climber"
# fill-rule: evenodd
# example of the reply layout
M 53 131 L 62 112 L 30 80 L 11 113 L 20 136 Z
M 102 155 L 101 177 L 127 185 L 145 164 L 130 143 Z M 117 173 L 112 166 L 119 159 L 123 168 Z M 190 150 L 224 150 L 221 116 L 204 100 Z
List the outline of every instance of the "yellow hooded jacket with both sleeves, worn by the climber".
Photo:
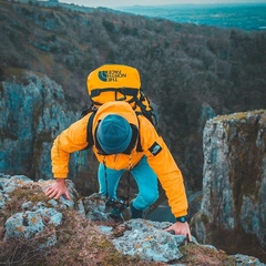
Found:
M 143 115 L 136 117 L 135 112 L 126 102 L 115 102 L 115 104 L 109 102 L 99 108 L 93 119 L 92 132 L 95 131 L 98 121 L 103 120 L 110 113 L 120 114 L 129 123 L 137 126 L 142 151 L 137 151 L 135 145 L 130 155 L 101 155 L 96 146 L 93 145 L 93 152 L 99 162 L 104 162 L 110 168 L 122 170 L 134 167 L 145 155 L 149 165 L 153 168 L 165 190 L 173 215 L 175 217 L 186 215 L 187 200 L 182 173 L 163 139 L 158 136 L 151 122 Z M 66 178 L 70 153 L 81 151 L 88 146 L 86 125 L 90 115 L 91 113 L 73 123 L 55 139 L 51 151 L 52 171 L 55 178 Z M 95 143 L 94 134 L 93 139 Z

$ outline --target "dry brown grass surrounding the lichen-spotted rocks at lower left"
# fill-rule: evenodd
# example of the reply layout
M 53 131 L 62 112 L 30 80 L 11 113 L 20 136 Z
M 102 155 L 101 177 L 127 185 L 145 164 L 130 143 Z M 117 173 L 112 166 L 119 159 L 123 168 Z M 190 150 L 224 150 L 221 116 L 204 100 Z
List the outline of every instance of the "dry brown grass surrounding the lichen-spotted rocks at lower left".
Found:
M 0 214 L 0 265 L 164 265 L 120 254 L 112 242 L 98 229 L 95 223 L 88 221 L 73 209 L 61 209 L 63 223 L 57 228 L 45 226 L 42 234 L 31 239 L 9 238 L 4 241 L 4 223 L 13 213 L 21 212 L 22 203 L 47 201 L 38 186 L 19 187 L 10 195 L 11 201 L 6 204 Z M 47 238 L 53 234 L 57 235 L 57 245 L 40 249 L 40 244 L 45 243 Z

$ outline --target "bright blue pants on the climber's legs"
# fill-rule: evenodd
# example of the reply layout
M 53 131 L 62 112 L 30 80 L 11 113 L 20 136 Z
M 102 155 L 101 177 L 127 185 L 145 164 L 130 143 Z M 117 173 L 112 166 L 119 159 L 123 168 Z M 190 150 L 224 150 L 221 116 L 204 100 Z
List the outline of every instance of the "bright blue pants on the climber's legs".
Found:
M 105 180 L 105 171 L 108 182 Z M 109 197 L 116 198 L 119 182 L 125 171 L 126 170 L 116 171 L 108 167 L 104 170 L 104 165 L 100 164 L 98 170 L 98 178 L 100 184 L 99 193 L 106 196 L 108 185 Z M 145 156 L 143 156 L 139 164 L 131 170 L 131 173 L 139 187 L 139 194 L 136 198 L 133 200 L 132 204 L 136 209 L 143 211 L 158 198 L 157 176 L 147 164 Z

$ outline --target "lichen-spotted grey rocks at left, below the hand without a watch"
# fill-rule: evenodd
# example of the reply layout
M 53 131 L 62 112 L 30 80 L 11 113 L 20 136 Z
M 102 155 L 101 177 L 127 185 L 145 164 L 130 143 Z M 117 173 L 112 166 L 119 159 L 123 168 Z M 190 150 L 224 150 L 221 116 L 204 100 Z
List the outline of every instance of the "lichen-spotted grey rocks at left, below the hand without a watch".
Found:
M 47 190 L 53 181 L 43 181 L 33 182 L 29 177 L 23 175 L 9 176 L 0 174 L 0 186 L 1 186 L 1 203 L 0 208 L 3 208 L 4 205 L 11 200 L 10 193 L 14 192 L 16 188 L 27 188 L 27 194 L 29 198 L 33 198 L 33 195 L 38 195 Z M 19 238 L 32 238 L 37 237 L 45 231 L 48 226 L 58 227 L 61 225 L 63 219 L 63 214 L 59 209 L 74 208 L 78 212 L 84 209 L 82 202 L 76 198 L 78 193 L 74 188 L 72 181 L 66 181 L 68 188 L 70 191 L 71 200 L 65 200 L 63 196 L 59 201 L 50 200 L 44 201 L 45 196 L 43 194 L 42 201 L 41 197 L 38 197 L 33 201 L 27 201 L 17 206 L 18 209 L 22 212 L 17 212 L 7 218 L 6 222 L 6 235 L 4 239 L 12 237 Z M 33 190 L 34 187 L 34 190 Z M 20 192 L 22 193 L 22 192 Z M 24 193 L 25 194 L 25 193 Z M 23 193 L 22 193 L 23 195 Z M 18 197 L 22 195 L 17 194 Z M 74 204 L 78 202 L 79 204 Z M 19 203 L 19 202 L 18 202 Z M 17 203 L 17 204 L 18 204 Z M 48 235 L 47 241 L 41 243 L 40 247 L 44 248 L 47 246 L 57 244 L 55 233 Z

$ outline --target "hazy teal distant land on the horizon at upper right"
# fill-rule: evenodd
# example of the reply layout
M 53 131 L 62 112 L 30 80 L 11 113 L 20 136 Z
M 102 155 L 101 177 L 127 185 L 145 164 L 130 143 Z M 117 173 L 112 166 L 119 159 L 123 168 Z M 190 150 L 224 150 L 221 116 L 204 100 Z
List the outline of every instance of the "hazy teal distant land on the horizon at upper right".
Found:
M 266 30 L 266 3 L 134 6 L 119 10 L 181 23 Z

